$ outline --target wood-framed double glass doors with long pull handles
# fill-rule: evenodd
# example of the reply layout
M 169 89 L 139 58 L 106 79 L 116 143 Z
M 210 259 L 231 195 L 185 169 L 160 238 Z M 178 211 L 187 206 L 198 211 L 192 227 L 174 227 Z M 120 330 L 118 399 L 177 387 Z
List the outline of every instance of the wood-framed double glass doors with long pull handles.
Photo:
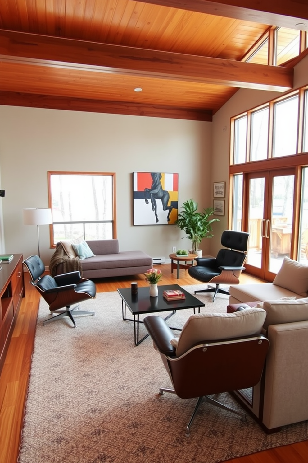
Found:
M 246 268 L 268 281 L 275 278 L 284 256 L 290 256 L 295 171 L 247 175 L 246 229 L 250 233 Z

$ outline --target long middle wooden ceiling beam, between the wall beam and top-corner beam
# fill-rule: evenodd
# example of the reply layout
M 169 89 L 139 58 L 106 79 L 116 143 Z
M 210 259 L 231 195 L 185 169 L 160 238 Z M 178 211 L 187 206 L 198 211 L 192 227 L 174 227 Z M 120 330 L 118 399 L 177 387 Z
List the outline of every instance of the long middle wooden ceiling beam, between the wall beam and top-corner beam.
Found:
M 3 30 L 0 55 L 26 59 L 27 64 L 32 60 L 36 65 L 83 66 L 97 72 L 238 88 L 279 92 L 293 86 L 293 69 L 283 67 Z

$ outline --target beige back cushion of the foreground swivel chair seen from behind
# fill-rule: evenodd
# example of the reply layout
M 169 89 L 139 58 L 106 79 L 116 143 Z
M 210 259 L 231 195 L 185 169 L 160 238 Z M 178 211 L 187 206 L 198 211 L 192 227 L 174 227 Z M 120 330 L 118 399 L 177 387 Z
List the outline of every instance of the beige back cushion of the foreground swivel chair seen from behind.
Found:
M 189 317 L 179 338 L 171 344 L 180 356 L 199 342 L 259 334 L 265 317 L 265 310 L 256 307 L 234 313 L 196 313 Z

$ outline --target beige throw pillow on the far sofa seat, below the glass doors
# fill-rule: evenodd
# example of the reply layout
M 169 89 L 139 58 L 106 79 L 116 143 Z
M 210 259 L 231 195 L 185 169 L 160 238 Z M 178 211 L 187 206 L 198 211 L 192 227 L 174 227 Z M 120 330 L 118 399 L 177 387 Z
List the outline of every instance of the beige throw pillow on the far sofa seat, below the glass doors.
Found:
M 284 256 L 281 269 L 278 271 L 273 284 L 289 289 L 296 294 L 307 296 L 308 265 L 302 265 Z

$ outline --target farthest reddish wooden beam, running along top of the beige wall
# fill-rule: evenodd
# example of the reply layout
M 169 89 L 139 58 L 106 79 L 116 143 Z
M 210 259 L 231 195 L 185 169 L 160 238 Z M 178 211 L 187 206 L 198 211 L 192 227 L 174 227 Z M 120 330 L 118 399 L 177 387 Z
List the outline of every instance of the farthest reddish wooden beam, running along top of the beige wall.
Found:
M 211 111 L 127 103 L 123 101 L 100 101 L 85 98 L 69 98 L 5 91 L 0 91 L 0 105 L 88 111 L 91 113 L 129 114 L 132 116 L 188 119 L 207 122 L 212 121 Z

